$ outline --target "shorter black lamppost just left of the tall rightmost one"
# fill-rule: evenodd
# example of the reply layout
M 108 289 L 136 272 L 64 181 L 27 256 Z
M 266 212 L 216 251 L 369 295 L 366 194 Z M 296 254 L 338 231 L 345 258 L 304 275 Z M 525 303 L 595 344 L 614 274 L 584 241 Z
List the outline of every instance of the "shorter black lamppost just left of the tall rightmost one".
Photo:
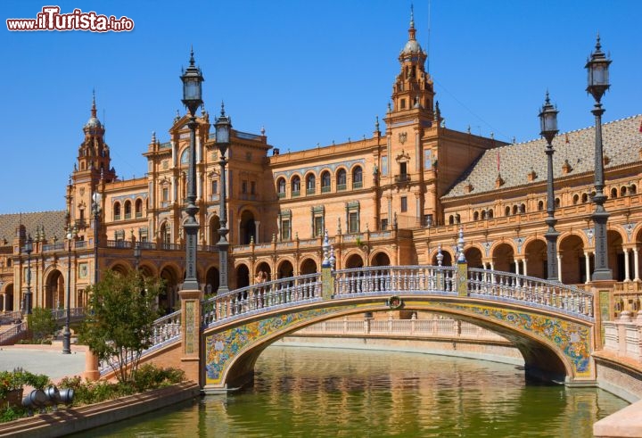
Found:
M 546 138 L 547 141 L 547 161 L 548 161 L 548 172 L 547 172 L 547 219 L 545 222 L 548 226 L 548 231 L 544 235 L 547 239 L 547 270 L 548 270 L 548 279 L 553 281 L 559 281 L 559 276 L 557 275 L 557 236 L 559 233 L 556 232 L 555 224 L 557 219 L 555 219 L 555 191 L 553 188 L 553 137 L 556 136 L 557 129 L 557 110 L 550 103 L 548 98 L 548 92 L 546 96 L 546 101 L 544 106 L 542 106 L 541 111 L 539 112 L 539 124 L 541 126 L 541 131 L 539 134 Z

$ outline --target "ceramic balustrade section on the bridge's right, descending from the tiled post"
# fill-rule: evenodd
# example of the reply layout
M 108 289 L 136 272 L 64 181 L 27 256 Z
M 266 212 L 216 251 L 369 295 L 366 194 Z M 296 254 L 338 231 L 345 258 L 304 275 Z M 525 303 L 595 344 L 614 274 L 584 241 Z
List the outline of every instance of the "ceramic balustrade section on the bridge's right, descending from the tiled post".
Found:
M 536 277 L 486 269 L 468 269 L 468 291 L 473 298 L 522 303 L 585 319 L 594 317 L 593 293 L 577 286 Z

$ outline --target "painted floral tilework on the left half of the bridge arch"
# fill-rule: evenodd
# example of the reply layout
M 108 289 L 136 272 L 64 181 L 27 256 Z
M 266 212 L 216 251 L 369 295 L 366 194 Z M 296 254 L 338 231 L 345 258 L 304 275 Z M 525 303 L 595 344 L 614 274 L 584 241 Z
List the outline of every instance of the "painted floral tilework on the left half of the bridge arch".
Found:
M 304 310 L 254 321 L 244 326 L 236 326 L 224 332 L 207 336 L 205 340 L 206 384 L 220 384 L 226 367 L 231 363 L 231 359 L 234 359 L 240 351 L 243 351 L 251 343 L 259 341 L 268 335 L 274 335 L 276 332 L 302 321 L 354 307 L 356 306 Z

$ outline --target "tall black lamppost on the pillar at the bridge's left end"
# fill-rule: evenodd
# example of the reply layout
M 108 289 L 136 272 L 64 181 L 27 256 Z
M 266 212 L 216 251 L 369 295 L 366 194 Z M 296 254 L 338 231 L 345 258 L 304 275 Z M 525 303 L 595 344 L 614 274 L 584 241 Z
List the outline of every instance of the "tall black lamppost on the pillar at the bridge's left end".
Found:
M 187 127 L 190 128 L 190 149 L 189 169 L 187 171 L 187 199 L 185 212 L 185 281 L 183 290 L 199 290 L 198 278 L 196 277 L 196 245 L 198 244 L 199 224 L 196 220 L 198 206 L 196 205 L 196 116 L 194 113 L 202 105 L 202 82 L 201 69 L 194 65 L 193 50 L 190 52 L 190 65 L 180 77 L 183 81 L 183 103 L 190 113 L 190 121 Z

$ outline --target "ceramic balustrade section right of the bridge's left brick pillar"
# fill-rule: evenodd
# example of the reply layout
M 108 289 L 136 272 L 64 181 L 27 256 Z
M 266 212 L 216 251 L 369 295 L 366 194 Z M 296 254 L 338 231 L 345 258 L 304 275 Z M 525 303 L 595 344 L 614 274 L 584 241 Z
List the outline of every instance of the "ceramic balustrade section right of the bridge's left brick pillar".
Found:
M 321 274 L 279 278 L 216 295 L 202 303 L 202 324 L 240 318 L 321 297 Z

